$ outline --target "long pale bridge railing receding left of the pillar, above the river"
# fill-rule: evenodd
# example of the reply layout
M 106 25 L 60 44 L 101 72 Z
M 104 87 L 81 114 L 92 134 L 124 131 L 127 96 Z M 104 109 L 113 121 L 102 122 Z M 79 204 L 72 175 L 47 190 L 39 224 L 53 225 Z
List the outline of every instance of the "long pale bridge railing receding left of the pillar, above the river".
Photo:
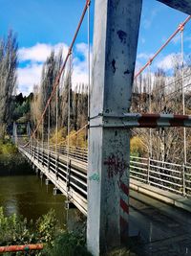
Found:
M 86 164 L 78 166 L 71 155 L 69 155 L 68 161 L 66 154 L 56 154 L 55 151 L 48 151 L 46 148 L 32 145 L 20 150 L 27 152 L 33 161 L 37 161 L 38 164 L 44 167 L 44 170 L 47 170 L 53 176 L 54 183 L 58 180 L 59 182 L 63 181 L 69 191 L 72 188 L 83 198 L 87 198 L 87 174 L 84 171 Z

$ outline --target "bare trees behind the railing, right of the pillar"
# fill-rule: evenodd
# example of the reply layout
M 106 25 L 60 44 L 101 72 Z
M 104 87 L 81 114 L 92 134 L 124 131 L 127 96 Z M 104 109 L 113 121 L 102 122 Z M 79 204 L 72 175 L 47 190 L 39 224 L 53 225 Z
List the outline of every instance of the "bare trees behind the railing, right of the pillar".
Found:
M 172 61 L 174 68 L 170 75 L 158 69 L 153 74 L 139 76 L 135 81 L 132 112 L 182 115 L 184 94 L 185 114 L 191 113 L 190 59 L 188 58 L 183 67 L 183 74 L 179 59 L 175 56 Z M 139 155 L 165 162 L 184 162 L 183 128 L 135 128 L 132 136 L 139 138 Z M 190 128 L 186 128 L 187 162 L 191 161 L 190 143 Z

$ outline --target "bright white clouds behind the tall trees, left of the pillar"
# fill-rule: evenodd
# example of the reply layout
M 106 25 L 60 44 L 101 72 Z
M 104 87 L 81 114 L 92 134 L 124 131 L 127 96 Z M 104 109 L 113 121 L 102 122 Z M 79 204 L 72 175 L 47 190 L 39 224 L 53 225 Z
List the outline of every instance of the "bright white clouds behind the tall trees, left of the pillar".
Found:
M 22 92 L 24 95 L 32 92 L 33 85 L 40 83 L 43 62 L 50 56 L 52 50 L 57 54 L 60 49 L 63 50 L 63 57 L 66 57 L 68 46 L 64 43 L 57 43 L 55 45 L 37 43 L 30 48 L 21 48 L 19 50 L 19 61 L 24 67 L 18 68 L 18 92 Z M 87 58 L 88 45 L 85 43 L 76 44 L 73 59 L 73 86 L 76 83 L 88 83 Z M 25 61 L 29 63 L 25 65 Z

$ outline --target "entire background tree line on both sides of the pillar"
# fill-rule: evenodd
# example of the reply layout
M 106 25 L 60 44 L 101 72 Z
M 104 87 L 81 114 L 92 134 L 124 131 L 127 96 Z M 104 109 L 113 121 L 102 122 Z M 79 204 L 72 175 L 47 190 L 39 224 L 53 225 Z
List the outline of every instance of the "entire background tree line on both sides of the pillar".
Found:
M 0 137 L 5 136 L 6 129 L 11 130 L 12 122 L 32 124 L 34 128 L 45 108 L 53 90 L 53 82 L 63 62 L 62 52 L 53 51 L 43 64 L 41 80 L 33 86 L 33 92 L 28 97 L 16 95 L 18 67 L 18 43 L 12 32 L 0 39 Z M 59 88 L 53 95 L 50 107 L 46 111 L 43 126 L 38 130 L 38 136 L 48 133 L 49 120 L 51 134 L 55 133 L 57 123 L 61 136 L 66 137 L 70 118 L 70 131 L 82 128 L 88 122 L 88 88 L 84 83 L 73 84 L 72 60 L 62 76 Z M 182 82 L 185 98 L 185 113 L 191 113 L 190 74 L 191 61 L 184 65 L 183 81 L 182 67 L 179 59 L 173 59 L 172 74 L 166 74 L 162 69 L 155 73 L 140 75 L 134 83 L 132 97 L 132 112 L 156 112 L 182 114 Z M 57 117 L 56 117 L 57 109 Z M 70 111 L 69 111 L 70 110 Z M 69 116 L 70 113 L 70 116 Z M 46 138 L 45 138 L 46 139 Z M 183 128 L 156 128 L 152 132 L 147 128 L 133 129 L 133 151 L 139 155 L 147 155 L 163 161 L 183 161 Z M 150 143 L 150 139 L 152 143 Z M 190 129 L 186 128 L 186 145 L 191 143 Z M 151 147 L 152 144 L 152 147 Z M 152 152 L 151 152 L 152 151 Z M 187 159 L 191 154 L 187 151 Z

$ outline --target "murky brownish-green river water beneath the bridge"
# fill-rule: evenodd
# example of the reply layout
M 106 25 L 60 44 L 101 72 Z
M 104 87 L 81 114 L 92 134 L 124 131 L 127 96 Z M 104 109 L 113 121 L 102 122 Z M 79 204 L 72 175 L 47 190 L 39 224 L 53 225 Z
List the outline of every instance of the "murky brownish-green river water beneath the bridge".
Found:
M 30 165 L 25 164 L 21 168 L 23 170 L 10 171 L 9 167 L 0 170 L 3 174 L 0 175 L 0 206 L 3 206 L 6 216 L 15 213 L 35 221 L 53 208 L 62 227 L 68 220 L 67 216 L 70 220 L 77 218 L 76 209 L 66 212 L 63 195 L 53 196 L 53 184 L 47 186 L 45 178 L 36 175 Z

